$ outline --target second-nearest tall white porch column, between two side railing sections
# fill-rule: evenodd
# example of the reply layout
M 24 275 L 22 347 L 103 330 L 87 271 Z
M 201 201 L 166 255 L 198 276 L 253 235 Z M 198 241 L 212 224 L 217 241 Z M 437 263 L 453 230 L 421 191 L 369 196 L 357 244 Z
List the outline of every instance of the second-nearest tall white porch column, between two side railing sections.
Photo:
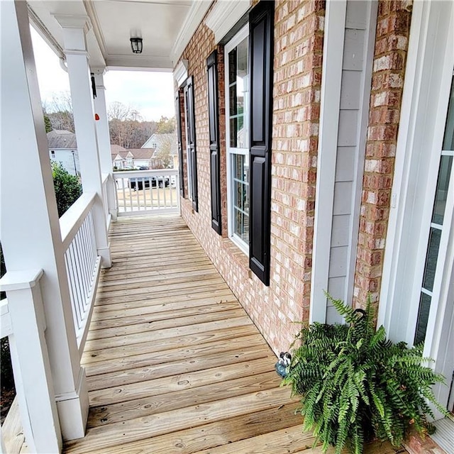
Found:
M 63 30 L 65 55 L 70 77 L 72 111 L 84 192 L 96 192 L 93 206 L 96 248 L 103 267 L 111 267 L 106 216 L 102 201 L 101 165 L 93 110 L 93 95 L 85 43 L 87 16 L 55 16 Z

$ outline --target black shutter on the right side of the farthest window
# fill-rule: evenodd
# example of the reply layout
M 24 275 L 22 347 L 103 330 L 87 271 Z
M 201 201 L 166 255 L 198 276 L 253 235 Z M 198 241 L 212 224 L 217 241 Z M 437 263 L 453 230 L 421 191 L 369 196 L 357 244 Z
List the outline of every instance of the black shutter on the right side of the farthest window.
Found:
M 187 146 L 189 148 L 189 162 L 191 168 L 191 197 L 192 208 L 199 211 L 199 201 L 197 194 L 197 152 L 196 152 L 196 117 L 194 109 L 194 83 L 192 76 L 186 81 L 184 87 L 184 99 L 186 101 L 186 121 L 187 121 Z

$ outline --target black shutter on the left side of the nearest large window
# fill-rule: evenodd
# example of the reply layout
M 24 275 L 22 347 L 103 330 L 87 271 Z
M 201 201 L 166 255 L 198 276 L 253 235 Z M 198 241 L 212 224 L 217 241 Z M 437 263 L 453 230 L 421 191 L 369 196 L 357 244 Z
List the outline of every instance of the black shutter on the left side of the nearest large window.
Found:
M 218 52 L 214 50 L 206 59 L 208 71 L 208 114 L 210 139 L 211 175 L 211 227 L 221 234 L 221 187 L 219 163 L 219 122 L 218 122 Z

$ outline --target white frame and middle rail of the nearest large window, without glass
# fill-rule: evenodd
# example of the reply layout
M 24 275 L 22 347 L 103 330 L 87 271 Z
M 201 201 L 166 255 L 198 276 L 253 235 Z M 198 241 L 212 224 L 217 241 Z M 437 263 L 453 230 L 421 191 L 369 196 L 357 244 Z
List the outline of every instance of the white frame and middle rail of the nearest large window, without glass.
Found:
M 237 155 L 249 155 L 249 148 L 230 148 L 228 143 L 229 143 L 229 138 L 230 138 L 230 118 L 228 112 L 230 111 L 230 106 L 229 106 L 229 92 L 228 92 L 228 52 L 231 52 L 238 44 L 241 43 L 245 38 L 248 38 L 249 36 L 249 25 L 244 26 L 241 28 L 241 30 L 233 36 L 233 38 L 228 41 L 228 43 L 224 46 L 224 62 L 226 64 L 224 65 L 224 81 L 225 81 L 225 89 L 226 89 L 226 94 L 225 94 L 225 99 L 226 99 L 226 171 L 227 171 L 227 218 L 228 218 L 228 238 L 231 239 L 231 241 L 240 248 L 240 250 L 243 251 L 246 255 L 249 255 L 249 244 L 245 243 L 243 240 L 241 240 L 235 233 L 233 233 L 233 221 L 234 221 L 234 216 L 233 216 L 233 184 L 232 184 L 232 151 L 236 153 Z M 249 125 L 249 106 L 248 109 L 244 109 L 244 121 L 248 122 Z M 250 131 L 249 131 L 250 132 Z

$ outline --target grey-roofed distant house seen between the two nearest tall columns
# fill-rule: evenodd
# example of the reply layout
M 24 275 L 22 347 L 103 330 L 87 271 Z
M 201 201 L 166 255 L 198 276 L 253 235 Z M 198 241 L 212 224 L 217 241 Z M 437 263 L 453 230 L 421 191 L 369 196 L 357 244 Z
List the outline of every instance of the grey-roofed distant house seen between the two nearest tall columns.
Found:
M 50 131 L 48 143 L 50 160 L 61 162 L 71 175 L 80 175 L 76 135 L 70 131 Z

